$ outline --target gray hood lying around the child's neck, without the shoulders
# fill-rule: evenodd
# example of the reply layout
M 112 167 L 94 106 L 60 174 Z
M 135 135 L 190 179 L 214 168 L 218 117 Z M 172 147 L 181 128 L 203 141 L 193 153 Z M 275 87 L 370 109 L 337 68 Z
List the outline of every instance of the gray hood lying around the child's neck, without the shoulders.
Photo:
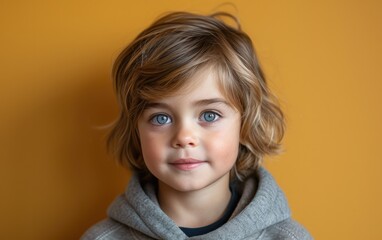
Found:
M 237 184 L 241 194 L 230 220 L 215 231 L 191 239 L 243 239 L 290 218 L 284 193 L 264 168 Z M 240 190 L 241 189 L 241 190 Z M 188 239 L 159 207 L 153 184 L 132 176 L 125 193 L 110 205 L 109 218 L 154 239 Z

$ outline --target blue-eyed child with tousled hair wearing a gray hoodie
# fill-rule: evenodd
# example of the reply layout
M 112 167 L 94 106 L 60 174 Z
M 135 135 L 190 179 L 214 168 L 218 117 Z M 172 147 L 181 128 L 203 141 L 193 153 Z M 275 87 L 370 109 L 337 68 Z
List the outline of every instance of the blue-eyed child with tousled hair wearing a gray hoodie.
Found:
M 250 38 L 221 18 L 168 14 L 113 69 L 109 146 L 134 175 L 82 239 L 311 239 L 260 164 L 284 119 Z

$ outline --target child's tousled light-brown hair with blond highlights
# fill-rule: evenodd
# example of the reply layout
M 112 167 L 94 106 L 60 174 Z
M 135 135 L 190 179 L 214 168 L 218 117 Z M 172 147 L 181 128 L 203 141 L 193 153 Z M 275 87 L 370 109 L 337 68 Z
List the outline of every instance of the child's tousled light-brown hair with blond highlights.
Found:
M 213 72 L 220 92 L 241 116 L 232 176 L 245 179 L 265 155 L 278 152 L 283 114 L 265 82 L 252 42 L 240 26 L 231 27 L 219 17 L 236 21 L 226 13 L 166 15 L 144 30 L 116 60 L 113 77 L 120 115 L 109 144 L 123 165 L 150 175 L 138 132 L 142 113 L 150 103 L 192 88 L 194 76 L 206 69 Z

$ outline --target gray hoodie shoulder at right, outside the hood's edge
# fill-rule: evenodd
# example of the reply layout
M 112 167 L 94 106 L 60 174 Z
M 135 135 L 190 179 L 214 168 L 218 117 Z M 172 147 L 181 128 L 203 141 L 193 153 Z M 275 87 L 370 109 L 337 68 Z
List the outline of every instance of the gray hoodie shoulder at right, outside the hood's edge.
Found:
M 313 237 L 301 224 L 289 218 L 265 229 L 260 239 L 310 240 Z

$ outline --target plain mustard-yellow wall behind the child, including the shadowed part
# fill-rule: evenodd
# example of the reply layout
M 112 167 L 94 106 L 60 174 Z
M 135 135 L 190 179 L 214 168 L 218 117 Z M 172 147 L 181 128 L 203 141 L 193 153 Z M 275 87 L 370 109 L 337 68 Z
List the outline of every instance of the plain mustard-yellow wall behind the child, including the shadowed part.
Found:
M 0 2 L 2 239 L 77 239 L 128 173 L 104 148 L 119 51 L 166 11 L 223 1 Z M 232 1 L 282 101 L 267 160 L 316 239 L 382 239 L 382 2 Z

